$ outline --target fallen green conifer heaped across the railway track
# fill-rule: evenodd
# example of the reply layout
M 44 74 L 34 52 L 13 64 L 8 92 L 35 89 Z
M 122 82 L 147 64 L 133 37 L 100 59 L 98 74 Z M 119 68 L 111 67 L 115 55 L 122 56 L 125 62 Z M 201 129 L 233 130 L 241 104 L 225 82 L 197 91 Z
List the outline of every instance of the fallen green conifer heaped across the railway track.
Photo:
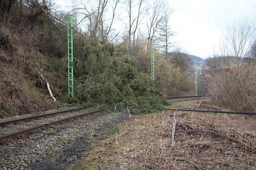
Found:
M 157 90 L 156 81 L 140 72 L 134 58 L 113 56 L 114 46 L 107 42 L 90 40 L 83 49 L 83 54 L 74 56 L 81 61 L 74 63 L 74 70 L 80 70 L 74 71 L 74 77 L 78 77 L 74 92 L 79 101 L 109 107 L 168 104 Z

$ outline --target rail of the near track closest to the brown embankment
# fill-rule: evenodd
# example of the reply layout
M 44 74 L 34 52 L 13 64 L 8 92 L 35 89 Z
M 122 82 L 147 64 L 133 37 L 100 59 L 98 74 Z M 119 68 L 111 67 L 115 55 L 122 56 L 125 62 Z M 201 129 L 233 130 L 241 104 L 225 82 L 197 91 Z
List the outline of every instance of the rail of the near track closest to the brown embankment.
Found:
M 4 121 L 4 122 L 0 122 L 0 126 L 7 125 L 7 124 L 12 124 L 12 123 L 16 123 L 16 122 L 20 122 L 20 121 L 24 121 L 24 120 L 31 120 L 31 119 L 35 119 L 35 118 L 39 118 L 39 117 L 54 115 L 54 114 L 57 114 L 57 113 L 64 113 L 64 112 L 73 111 L 73 110 L 86 109 L 86 108 L 89 108 L 89 107 L 91 107 L 91 106 L 79 107 L 79 108 L 75 108 L 75 109 L 68 109 L 68 110 L 56 111 L 56 112 L 51 112 L 51 113 L 46 113 L 46 114 L 41 114 L 41 115 L 22 117 L 22 118 L 19 118 L 19 119 L 7 120 L 7 121 Z

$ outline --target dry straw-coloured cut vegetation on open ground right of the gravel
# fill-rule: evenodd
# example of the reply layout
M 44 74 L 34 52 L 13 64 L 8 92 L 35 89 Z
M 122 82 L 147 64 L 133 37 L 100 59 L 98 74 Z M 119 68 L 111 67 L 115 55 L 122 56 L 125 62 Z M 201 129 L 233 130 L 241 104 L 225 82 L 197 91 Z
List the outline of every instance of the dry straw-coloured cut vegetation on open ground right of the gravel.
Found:
M 190 108 L 198 106 L 190 102 Z M 256 169 L 255 135 L 228 126 L 217 114 L 204 115 L 180 112 L 175 149 L 170 112 L 138 116 L 115 137 L 85 152 L 76 169 Z M 228 116 L 230 122 L 235 118 Z

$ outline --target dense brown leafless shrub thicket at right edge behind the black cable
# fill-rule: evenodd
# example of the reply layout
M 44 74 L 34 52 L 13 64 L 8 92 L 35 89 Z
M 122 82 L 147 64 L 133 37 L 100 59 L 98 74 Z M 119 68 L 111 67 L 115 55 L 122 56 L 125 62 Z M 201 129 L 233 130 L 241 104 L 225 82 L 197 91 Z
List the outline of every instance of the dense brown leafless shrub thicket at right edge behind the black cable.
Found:
M 219 71 L 209 85 L 213 103 L 237 111 L 255 112 L 256 71 L 250 67 L 253 65 L 241 65 L 237 74 L 234 74 L 234 69 L 229 72 Z

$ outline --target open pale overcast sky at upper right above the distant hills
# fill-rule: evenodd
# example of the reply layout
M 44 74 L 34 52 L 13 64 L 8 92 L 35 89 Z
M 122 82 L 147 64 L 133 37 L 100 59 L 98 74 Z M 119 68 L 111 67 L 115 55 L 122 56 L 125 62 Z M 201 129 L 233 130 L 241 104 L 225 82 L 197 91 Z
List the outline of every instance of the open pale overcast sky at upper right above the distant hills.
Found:
M 256 0 L 169 0 L 169 4 L 175 10 L 170 19 L 174 41 L 202 58 L 219 46 L 228 23 L 244 17 L 253 21 L 256 13 Z

